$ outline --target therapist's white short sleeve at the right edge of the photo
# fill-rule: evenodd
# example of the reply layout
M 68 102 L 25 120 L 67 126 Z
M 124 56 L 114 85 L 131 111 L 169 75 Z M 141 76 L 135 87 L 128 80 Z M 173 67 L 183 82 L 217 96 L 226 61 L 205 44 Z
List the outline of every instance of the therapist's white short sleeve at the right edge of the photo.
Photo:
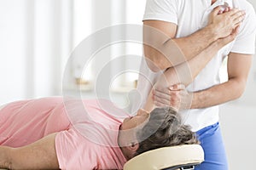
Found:
M 231 48 L 233 53 L 255 53 L 256 16 L 253 6 L 249 3 L 247 3 L 246 13 L 246 18 L 243 20 L 240 32 Z

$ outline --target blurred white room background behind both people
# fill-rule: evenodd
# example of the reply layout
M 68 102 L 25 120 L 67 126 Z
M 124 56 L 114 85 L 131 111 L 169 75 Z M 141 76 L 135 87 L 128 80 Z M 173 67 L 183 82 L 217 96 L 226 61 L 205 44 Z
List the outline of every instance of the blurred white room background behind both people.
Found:
M 256 8 L 254 0 L 249 2 Z M 146 0 L 0 0 L 0 104 L 61 95 L 64 71 L 70 77 L 63 87 L 66 91 L 73 94 L 80 88 L 85 98 L 95 97 L 93 82 L 97 69 L 121 55 L 143 56 L 142 44 L 120 42 L 103 48 L 86 68 L 75 60 L 67 68 L 69 56 L 84 38 L 103 28 L 119 24 L 142 25 L 145 3 Z M 130 65 L 138 71 L 140 63 L 127 59 L 119 65 L 111 65 L 106 78 L 113 77 L 119 67 L 129 68 Z M 84 72 L 82 77 L 81 71 Z M 226 77 L 222 72 L 222 77 Z M 125 107 L 129 102 L 126 94 L 136 88 L 136 84 L 136 72 L 120 74 L 109 87 L 111 99 Z M 246 92 L 241 99 L 220 108 L 231 170 L 254 167 L 255 88 L 254 59 Z

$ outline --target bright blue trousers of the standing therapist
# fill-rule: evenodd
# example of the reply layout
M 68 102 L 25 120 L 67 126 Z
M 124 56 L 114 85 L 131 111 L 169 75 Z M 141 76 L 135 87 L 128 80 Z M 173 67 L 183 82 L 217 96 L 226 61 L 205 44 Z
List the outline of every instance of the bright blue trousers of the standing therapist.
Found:
M 205 152 L 205 161 L 196 170 L 227 170 L 228 161 L 224 150 L 224 143 L 218 123 L 204 127 L 196 132 Z

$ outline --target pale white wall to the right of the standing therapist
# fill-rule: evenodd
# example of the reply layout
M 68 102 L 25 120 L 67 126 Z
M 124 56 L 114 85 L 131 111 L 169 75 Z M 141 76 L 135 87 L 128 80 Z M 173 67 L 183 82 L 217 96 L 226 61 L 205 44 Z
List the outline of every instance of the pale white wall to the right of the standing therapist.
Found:
M 256 9 L 256 1 L 248 0 Z M 255 20 L 256 22 L 256 20 Z M 255 58 L 255 55 L 254 57 Z M 241 99 L 222 105 L 220 122 L 230 170 L 255 169 L 256 59 Z

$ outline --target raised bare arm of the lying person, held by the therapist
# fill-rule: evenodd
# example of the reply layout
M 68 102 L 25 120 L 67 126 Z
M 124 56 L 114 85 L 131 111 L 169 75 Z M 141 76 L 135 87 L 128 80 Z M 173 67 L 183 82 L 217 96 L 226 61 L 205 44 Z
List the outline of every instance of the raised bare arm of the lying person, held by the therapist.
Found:
M 212 42 L 210 46 L 205 48 L 201 54 L 196 55 L 195 58 L 190 59 L 188 62 L 184 62 L 181 65 L 167 69 L 156 83 L 156 90 L 159 89 L 161 91 L 157 84 L 160 84 L 160 87 L 166 94 L 169 94 L 170 91 L 168 88 L 174 84 L 181 83 L 187 87 L 191 82 L 195 80 L 195 77 L 207 65 L 212 57 L 215 56 L 218 50 L 225 45 L 225 43 L 226 41 L 220 40 Z M 148 95 L 148 100 L 144 106 L 144 109 L 146 111 L 152 111 L 154 109 L 153 91 L 151 91 Z

